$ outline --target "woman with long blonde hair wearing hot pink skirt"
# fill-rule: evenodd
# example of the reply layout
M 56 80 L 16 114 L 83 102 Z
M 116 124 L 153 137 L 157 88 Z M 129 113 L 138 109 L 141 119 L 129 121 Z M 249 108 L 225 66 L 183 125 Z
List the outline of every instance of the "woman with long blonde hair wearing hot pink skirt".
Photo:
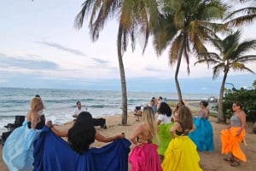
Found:
M 131 151 L 129 162 L 133 171 L 162 171 L 157 153 L 157 124 L 152 107 L 143 108 L 143 123 L 131 134 L 131 142 L 136 145 Z

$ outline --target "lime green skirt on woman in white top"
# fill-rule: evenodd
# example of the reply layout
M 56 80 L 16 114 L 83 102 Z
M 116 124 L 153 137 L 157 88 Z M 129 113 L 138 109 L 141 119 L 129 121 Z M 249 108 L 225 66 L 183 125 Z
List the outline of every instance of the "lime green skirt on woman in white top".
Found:
M 159 125 L 158 135 L 159 135 L 160 143 L 158 145 L 157 151 L 158 151 L 158 154 L 162 156 L 165 155 L 165 151 L 170 141 L 172 140 L 172 135 L 170 133 L 170 129 L 172 128 L 172 125 L 173 123 Z

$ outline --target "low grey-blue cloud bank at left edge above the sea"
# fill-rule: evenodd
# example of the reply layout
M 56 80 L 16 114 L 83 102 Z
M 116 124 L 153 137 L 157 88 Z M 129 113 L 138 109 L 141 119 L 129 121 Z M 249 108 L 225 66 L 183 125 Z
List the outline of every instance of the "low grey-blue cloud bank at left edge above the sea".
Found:
M 38 55 L 29 54 L 26 57 L 12 57 L 0 54 L 1 68 L 25 68 L 33 70 L 55 70 L 58 65 L 48 60 L 40 60 Z

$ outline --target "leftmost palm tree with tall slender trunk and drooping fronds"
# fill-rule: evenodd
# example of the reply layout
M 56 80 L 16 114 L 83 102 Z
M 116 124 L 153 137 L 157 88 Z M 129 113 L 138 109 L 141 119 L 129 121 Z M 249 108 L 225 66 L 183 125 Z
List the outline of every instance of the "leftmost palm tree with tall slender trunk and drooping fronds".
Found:
M 122 88 L 122 124 L 127 123 L 127 92 L 125 82 L 125 68 L 123 54 L 127 48 L 129 36 L 131 37 L 131 48 L 135 49 L 136 37 L 143 37 L 143 52 L 148 44 L 148 36 L 151 28 L 157 26 L 157 3 L 155 0 L 86 0 L 83 8 L 75 20 L 75 26 L 81 28 L 84 15 L 90 15 L 90 34 L 93 41 L 99 37 L 99 32 L 105 26 L 108 19 L 117 15 L 119 18 L 119 31 L 117 37 L 119 74 Z M 96 19 L 95 19 L 96 18 Z

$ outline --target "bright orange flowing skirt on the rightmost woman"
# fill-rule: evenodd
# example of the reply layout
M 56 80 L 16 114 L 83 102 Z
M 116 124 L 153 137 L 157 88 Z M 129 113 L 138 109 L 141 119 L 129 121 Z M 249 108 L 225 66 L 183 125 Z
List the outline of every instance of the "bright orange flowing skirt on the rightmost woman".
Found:
M 237 131 L 240 130 L 240 127 L 232 127 L 230 129 L 223 129 L 220 132 L 220 140 L 221 140 L 221 153 L 229 154 L 230 152 L 236 157 L 239 158 L 243 162 L 247 162 L 247 157 L 241 151 L 241 141 L 244 140 L 246 131 L 243 129 L 241 134 L 236 136 Z

